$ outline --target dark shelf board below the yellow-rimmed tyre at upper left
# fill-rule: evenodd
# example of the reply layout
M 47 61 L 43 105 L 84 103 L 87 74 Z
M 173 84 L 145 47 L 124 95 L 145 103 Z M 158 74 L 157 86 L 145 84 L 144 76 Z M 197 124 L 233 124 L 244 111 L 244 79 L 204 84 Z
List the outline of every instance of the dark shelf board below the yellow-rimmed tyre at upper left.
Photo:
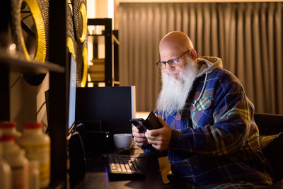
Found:
M 21 71 L 25 73 L 38 73 L 45 74 L 48 71 L 54 71 L 59 73 L 64 73 L 64 67 L 51 62 L 29 62 L 25 59 L 11 57 L 5 55 L 5 53 L 0 53 L 0 69 L 9 71 Z

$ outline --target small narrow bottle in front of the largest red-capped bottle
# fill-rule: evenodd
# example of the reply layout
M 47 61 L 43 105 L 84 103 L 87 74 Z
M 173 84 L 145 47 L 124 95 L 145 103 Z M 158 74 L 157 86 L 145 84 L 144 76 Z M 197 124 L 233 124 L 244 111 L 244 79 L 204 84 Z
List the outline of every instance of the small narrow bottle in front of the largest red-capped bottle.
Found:
M 30 189 L 40 188 L 40 171 L 38 169 L 38 161 L 30 161 Z

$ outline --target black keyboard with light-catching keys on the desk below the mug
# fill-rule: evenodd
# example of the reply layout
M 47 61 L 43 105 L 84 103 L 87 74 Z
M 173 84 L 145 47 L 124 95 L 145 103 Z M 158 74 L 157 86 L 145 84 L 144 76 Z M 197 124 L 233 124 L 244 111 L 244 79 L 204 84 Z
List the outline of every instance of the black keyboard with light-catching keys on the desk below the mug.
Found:
M 108 154 L 108 177 L 110 181 L 145 178 L 132 154 Z

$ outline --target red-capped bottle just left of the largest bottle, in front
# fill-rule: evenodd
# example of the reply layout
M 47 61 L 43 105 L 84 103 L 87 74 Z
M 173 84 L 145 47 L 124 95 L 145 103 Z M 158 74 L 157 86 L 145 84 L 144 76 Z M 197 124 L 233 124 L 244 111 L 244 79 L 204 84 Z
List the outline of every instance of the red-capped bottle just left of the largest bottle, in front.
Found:
M 15 136 L 4 135 L 0 141 L 4 159 L 11 167 L 12 188 L 28 189 L 28 159 L 25 158 L 25 151 L 15 143 Z

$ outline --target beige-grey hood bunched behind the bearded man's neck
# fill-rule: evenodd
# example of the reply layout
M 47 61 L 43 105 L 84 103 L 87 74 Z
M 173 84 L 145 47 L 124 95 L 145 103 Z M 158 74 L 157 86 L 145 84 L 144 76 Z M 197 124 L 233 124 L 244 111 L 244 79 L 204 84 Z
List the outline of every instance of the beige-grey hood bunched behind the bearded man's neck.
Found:
M 222 60 L 219 57 L 199 57 L 197 58 L 197 63 L 200 64 L 200 71 L 197 77 L 209 74 L 214 69 L 223 67 Z

